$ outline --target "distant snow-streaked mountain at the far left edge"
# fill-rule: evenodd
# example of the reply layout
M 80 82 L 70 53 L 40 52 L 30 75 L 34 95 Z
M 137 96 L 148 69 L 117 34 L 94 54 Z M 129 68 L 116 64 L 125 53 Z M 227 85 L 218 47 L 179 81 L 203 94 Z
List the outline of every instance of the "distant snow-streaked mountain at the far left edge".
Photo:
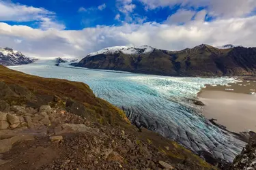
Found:
M 26 65 L 34 61 L 35 59 L 26 57 L 12 48 L 0 48 L 0 65 Z

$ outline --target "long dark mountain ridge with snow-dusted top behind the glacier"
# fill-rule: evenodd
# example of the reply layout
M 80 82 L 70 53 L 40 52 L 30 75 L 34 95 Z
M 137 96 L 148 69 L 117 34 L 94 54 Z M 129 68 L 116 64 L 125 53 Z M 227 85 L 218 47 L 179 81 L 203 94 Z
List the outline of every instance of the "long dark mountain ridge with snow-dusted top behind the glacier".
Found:
M 256 48 L 202 44 L 181 51 L 149 46 L 104 48 L 88 54 L 75 66 L 171 76 L 255 75 Z

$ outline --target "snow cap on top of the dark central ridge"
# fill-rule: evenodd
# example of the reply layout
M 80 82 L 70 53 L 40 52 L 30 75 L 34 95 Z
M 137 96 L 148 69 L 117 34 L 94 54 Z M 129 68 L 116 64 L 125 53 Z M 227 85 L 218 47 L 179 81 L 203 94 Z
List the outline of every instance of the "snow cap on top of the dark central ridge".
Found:
M 128 55 L 145 54 L 145 53 L 152 52 L 154 49 L 155 48 L 152 48 L 150 46 L 139 46 L 139 47 L 115 46 L 115 47 L 103 48 L 102 50 L 99 50 L 97 52 L 91 52 L 87 56 L 96 56 L 98 54 L 116 54 L 120 52 Z

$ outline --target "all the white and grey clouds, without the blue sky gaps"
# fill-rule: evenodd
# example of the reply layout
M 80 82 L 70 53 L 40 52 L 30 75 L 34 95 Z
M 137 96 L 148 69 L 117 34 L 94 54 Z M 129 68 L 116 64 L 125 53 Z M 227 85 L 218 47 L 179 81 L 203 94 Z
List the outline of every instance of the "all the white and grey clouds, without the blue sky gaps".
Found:
M 195 1 L 189 0 L 184 1 L 184 3 L 179 0 L 141 1 L 148 10 L 153 10 L 157 7 L 169 7 L 177 3 L 184 6 L 188 4 L 196 5 Z M 162 23 L 141 21 L 140 23 L 137 22 L 137 24 L 124 23 L 119 26 L 97 26 L 83 30 L 64 30 L 63 25 L 53 21 L 52 16 L 55 16 L 55 14 L 42 8 L 11 4 L 11 7 L 25 8 L 25 17 L 19 18 L 20 16 L 13 14 L 11 19 L 8 19 L 5 16 L 6 14 L 4 15 L 3 12 L 0 12 L 2 21 L 35 20 L 35 22 L 40 22 L 40 27 L 34 29 L 24 25 L 10 25 L 0 22 L 0 46 L 14 48 L 28 56 L 38 58 L 82 58 L 89 52 L 109 46 L 149 45 L 166 50 L 182 50 L 184 48 L 193 48 L 193 46 L 199 44 L 210 44 L 212 46 L 222 46 L 224 44 L 256 46 L 256 16 L 247 16 L 254 9 L 255 1 L 248 0 L 245 4 L 239 3 L 240 7 L 244 7 L 245 10 L 240 10 L 239 12 L 230 7 L 231 10 L 227 10 L 225 14 L 223 13 L 224 10 L 221 10 L 222 8 L 218 6 L 218 2 L 220 2 L 218 0 L 196 1 L 212 3 L 210 3 L 208 9 L 200 11 L 178 10 Z M 229 2 L 235 3 L 240 1 L 230 0 Z M 0 1 L 0 11 L 2 4 Z M 132 0 L 126 0 L 126 3 L 122 4 L 130 5 Z M 106 5 L 98 7 L 98 10 L 103 10 L 104 6 Z M 121 7 L 123 7 L 122 10 L 124 11 L 118 9 L 119 12 L 127 12 L 128 14 L 134 9 L 133 7 Z M 216 9 L 219 12 L 216 12 Z M 30 13 L 36 17 L 33 18 L 30 16 Z M 206 22 L 205 17 L 210 13 L 218 13 L 219 17 L 216 20 Z M 119 20 L 119 18 L 120 16 L 115 17 L 116 20 Z

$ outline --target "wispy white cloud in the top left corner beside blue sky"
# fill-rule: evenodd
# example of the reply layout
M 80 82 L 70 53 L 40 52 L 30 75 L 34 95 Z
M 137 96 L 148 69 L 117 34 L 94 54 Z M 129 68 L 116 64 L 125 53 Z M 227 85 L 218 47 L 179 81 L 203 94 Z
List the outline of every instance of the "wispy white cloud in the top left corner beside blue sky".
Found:
M 0 1 L 1 21 L 35 21 L 41 29 L 65 29 L 65 25 L 55 22 L 55 13 L 40 7 L 20 5 Z

